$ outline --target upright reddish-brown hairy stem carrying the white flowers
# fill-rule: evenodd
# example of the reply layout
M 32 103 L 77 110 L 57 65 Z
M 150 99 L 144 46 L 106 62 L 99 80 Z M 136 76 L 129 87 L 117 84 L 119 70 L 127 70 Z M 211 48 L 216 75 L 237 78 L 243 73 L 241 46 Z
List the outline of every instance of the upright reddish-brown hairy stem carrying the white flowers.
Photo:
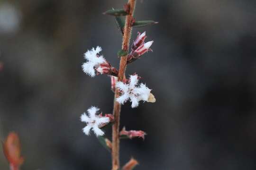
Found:
M 129 42 L 131 38 L 131 31 L 132 26 L 131 22 L 133 19 L 133 13 L 136 5 L 136 0 L 128 0 L 129 5 L 129 14 L 126 16 L 125 27 L 124 27 L 124 35 L 123 35 L 123 42 L 122 42 L 122 50 L 128 51 L 129 50 Z M 122 56 L 119 63 L 119 74 L 118 74 L 118 81 L 123 81 L 125 76 L 125 68 L 127 65 L 127 57 Z M 121 105 L 116 102 L 116 98 L 119 96 L 118 90 L 115 91 L 114 97 L 114 108 L 113 108 L 113 115 L 115 122 L 112 126 L 112 170 L 118 170 L 120 167 L 119 163 L 119 124 L 120 124 L 120 111 Z

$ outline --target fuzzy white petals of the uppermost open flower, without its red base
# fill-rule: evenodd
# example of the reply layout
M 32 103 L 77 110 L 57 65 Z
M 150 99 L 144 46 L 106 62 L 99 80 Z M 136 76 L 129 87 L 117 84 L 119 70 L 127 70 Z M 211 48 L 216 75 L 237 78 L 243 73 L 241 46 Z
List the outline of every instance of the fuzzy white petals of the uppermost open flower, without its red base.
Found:
M 105 63 L 106 60 L 104 57 L 99 55 L 99 52 L 101 52 L 101 47 L 97 46 L 96 49 L 92 48 L 91 50 L 86 51 L 84 53 L 84 59 L 87 60 L 87 62 L 83 63 L 82 70 L 87 75 L 94 77 L 95 76 L 95 69 L 100 66 L 100 64 Z

